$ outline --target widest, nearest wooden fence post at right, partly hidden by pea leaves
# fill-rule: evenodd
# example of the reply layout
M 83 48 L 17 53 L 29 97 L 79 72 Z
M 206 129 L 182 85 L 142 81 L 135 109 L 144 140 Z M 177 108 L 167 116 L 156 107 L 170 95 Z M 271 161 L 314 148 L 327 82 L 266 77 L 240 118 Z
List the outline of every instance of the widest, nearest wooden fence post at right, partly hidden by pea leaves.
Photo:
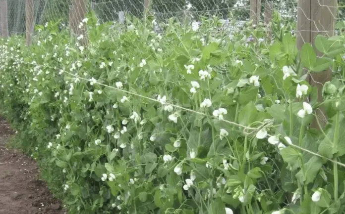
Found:
M 337 0 L 298 0 L 297 7 L 297 47 L 301 49 L 303 44 L 310 43 L 314 46 L 317 55 L 321 56 L 322 53 L 315 48 L 315 38 L 319 34 L 326 36 L 334 34 Z M 322 102 L 322 87 L 331 78 L 331 69 L 309 75 L 310 85 L 317 87 L 317 101 Z M 321 126 L 324 127 L 328 120 L 325 117 L 325 110 L 323 108 L 315 109 L 315 114 Z M 311 127 L 319 128 L 315 120 Z

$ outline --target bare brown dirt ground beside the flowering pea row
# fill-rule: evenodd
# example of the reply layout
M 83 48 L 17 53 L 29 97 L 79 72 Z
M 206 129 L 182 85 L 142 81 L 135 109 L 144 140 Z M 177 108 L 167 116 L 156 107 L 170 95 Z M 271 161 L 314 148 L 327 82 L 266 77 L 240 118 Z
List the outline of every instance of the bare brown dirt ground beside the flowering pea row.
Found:
M 35 161 L 5 147 L 13 134 L 0 117 L 0 214 L 65 214 L 39 179 Z

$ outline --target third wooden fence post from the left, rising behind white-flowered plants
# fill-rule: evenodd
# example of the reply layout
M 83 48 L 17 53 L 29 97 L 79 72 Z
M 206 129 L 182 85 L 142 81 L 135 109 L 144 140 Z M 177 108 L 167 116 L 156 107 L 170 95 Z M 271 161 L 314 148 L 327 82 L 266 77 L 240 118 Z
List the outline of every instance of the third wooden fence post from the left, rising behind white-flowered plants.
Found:
M 72 8 L 70 9 L 69 19 L 73 33 L 77 36 L 83 35 L 83 39 L 80 41 L 83 45 L 87 43 L 86 38 L 86 24 L 83 23 L 79 26 L 87 13 L 87 0 L 73 0 Z M 80 28 L 79 28 L 80 27 Z

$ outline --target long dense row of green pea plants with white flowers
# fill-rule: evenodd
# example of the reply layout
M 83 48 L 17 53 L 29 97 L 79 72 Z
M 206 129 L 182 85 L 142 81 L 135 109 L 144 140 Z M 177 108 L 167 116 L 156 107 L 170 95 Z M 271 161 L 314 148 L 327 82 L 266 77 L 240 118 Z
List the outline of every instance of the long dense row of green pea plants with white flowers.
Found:
M 30 46 L 1 41 L 2 114 L 69 214 L 344 212 L 343 36 L 318 36 L 316 58 L 277 14 L 272 43 L 220 21 L 160 35 L 150 17 L 118 29 L 89 14 L 87 46 L 58 23 Z M 318 103 L 302 68 L 330 66 Z

